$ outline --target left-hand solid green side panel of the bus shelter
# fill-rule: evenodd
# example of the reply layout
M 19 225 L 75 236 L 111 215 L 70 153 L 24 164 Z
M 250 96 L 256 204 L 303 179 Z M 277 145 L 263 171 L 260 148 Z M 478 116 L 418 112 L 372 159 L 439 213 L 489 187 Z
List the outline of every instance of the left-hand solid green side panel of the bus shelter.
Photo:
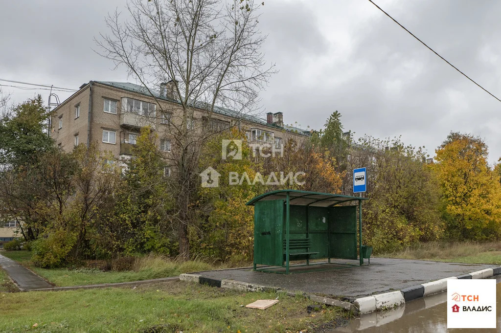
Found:
M 284 200 L 263 200 L 254 206 L 254 262 L 282 266 Z

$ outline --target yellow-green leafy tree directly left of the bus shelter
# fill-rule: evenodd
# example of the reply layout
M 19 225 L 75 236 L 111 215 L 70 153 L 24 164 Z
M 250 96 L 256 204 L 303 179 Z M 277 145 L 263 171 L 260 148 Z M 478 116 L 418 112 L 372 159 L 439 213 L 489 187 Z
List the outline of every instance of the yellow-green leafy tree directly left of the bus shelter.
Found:
M 223 158 L 222 140 L 241 140 L 241 159 Z M 189 230 L 190 246 L 194 252 L 213 258 L 235 264 L 248 262 L 254 249 L 254 207 L 245 203 L 264 189 L 258 190 L 263 187 L 259 182 L 252 183 L 259 165 L 252 158 L 244 132 L 232 128 L 207 141 L 200 159 L 200 173 L 208 167 L 220 175 L 218 186 L 199 189 L 197 209 L 202 216 Z M 238 177 L 230 183 L 231 174 Z

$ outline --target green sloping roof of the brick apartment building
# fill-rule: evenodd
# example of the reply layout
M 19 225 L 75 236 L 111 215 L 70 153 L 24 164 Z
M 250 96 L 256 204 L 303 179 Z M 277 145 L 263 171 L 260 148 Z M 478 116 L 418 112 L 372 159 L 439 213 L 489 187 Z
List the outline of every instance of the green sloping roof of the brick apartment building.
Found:
M 131 93 L 141 94 L 141 95 L 145 95 L 145 96 L 148 96 L 148 97 L 154 97 L 156 99 L 164 100 L 164 101 L 167 101 L 167 102 L 178 103 L 178 104 L 180 103 L 177 100 L 173 100 L 171 98 L 162 96 L 160 94 L 160 92 L 157 91 L 157 90 L 155 90 L 155 89 L 151 89 L 150 88 L 149 91 L 148 91 L 148 89 L 146 89 L 146 87 L 140 86 L 140 85 L 136 85 L 136 84 L 130 83 L 130 82 L 113 82 L 113 81 L 94 81 L 94 82 L 102 84 L 102 85 L 106 85 L 106 86 L 110 86 L 110 87 L 114 87 L 114 88 L 118 88 L 118 89 L 130 91 Z M 195 107 L 199 108 L 199 109 L 205 109 L 206 108 L 206 104 L 202 103 L 202 102 L 197 102 L 196 105 L 195 105 Z M 283 127 L 275 126 L 275 125 L 272 125 L 272 124 L 268 124 L 266 122 L 266 120 L 264 120 L 262 118 L 259 118 L 257 116 L 242 115 L 241 113 L 239 113 L 237 111 L 230 110 L 230 109 L 227 109 L 227 108 L 215 106 L 214 107 L 214 112 L 217 113 L 217 114 L 223 115 L 223 116 L 228 116 L 228 117 L 232 117 L 232 118 L 240 118 L 240 119 L 244 119 L 244 120 L 246 120 L 248 122 L 253 122 L 253 123 L 256 123 L 256 124 L 260 124 L 260 125 L 264 125 L 264 126 L 269 126 L 269 127 L 275 127 L 277 129 L 280 129 L 280 130 L 283 129 L 283 130 L 286 130 L 287 132 L 292 132 L 292 133 L 297 133 L 297 134 L 300 134 L 300 135 L 310 136 L 310 131 L 308 131 L 308 130 L 305 130 L 305 129 L 302 129 L 302 128 L 299 128 L 299 127 L 295 127 L 295 126 L 285 125 L 285 124 L 284 124 Z

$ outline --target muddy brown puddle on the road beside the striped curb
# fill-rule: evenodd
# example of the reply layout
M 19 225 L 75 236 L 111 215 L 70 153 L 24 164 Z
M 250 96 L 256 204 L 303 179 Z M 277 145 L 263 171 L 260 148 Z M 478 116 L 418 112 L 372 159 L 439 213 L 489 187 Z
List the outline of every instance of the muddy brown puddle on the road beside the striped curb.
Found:
M 427 296 L 408 302 L 405 306 L 385 312 L 373 312 L 351 320 L 346 327 L 336 328 L 331 333 L 445 333 L 481 332 L 501 333 L 501 277 L 496 278 L 497 328 L 450 328 L 447 329 L 447 293 Z

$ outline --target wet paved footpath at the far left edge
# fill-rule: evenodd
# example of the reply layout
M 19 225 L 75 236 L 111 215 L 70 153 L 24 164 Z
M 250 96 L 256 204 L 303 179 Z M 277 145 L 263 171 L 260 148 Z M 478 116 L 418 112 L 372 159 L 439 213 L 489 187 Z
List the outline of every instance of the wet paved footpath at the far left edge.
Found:
M 0 254 L 0 266 L 5 269 L 21 291 L 54 287 L 25 266 L 2 254 Z

